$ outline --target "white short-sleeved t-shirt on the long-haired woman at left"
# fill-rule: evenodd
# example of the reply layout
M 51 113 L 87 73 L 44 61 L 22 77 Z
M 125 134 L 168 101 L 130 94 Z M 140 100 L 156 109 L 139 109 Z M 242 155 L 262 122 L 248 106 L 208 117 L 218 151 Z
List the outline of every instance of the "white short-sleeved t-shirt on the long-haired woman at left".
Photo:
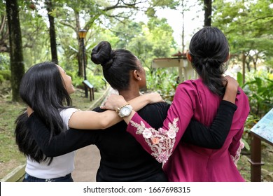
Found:
M 71 115 L 78 111 L 78 109 L 69 108 L 60 111 L 62 120 L 67 129 L 69 129 L 68 123 Z M 38 163 L 34 160 L 31 160 L 27 157 L 27 165 L 25 171 L 27 174 L 34 176 L 39 179 L 55 179 L 62 176 L 66 176 L 73 172 L 74 167 L 74 158 L 76 151 L 67 153 L 53 158 L 50 165 L 48 162 Z

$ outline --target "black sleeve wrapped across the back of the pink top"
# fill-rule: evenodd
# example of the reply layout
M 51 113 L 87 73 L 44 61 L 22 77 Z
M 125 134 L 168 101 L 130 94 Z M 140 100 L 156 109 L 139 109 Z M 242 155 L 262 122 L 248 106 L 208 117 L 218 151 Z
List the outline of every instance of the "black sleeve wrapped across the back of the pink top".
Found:
M 222 100 L 211 127 L 206 127 L 197 120 L 190 120 L 181 140 L 204 148 L 221 148 L 230 132 L 236 109 L 235 104 Z

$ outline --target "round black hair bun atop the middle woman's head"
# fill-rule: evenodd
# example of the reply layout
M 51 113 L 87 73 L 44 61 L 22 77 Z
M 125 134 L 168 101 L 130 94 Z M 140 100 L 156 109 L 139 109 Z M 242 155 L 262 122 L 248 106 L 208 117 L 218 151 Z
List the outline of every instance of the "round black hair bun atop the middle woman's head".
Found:
M 91 52 L 91 60 L 94 64 L 101 64 L 108 69 L 113 63 L 113 50 L 108 41 L 101 41 Z

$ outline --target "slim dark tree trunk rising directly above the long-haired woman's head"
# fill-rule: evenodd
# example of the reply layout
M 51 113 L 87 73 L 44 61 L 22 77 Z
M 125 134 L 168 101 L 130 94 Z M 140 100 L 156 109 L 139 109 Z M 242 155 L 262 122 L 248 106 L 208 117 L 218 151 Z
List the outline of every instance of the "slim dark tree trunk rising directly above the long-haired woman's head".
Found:
M 46 4 L 46 10 L 48 11 L 48 20 L 49 20 L 51 59 L 52 59 L 52 62 L 55 62 L 56 64 L 58 64 L 55 22 L 54 22 L 54 17 L 52 17 L 52 15 L 50 14 L 50 12 L 52 12 L 52 1 L 46 0 L 45 4 Z

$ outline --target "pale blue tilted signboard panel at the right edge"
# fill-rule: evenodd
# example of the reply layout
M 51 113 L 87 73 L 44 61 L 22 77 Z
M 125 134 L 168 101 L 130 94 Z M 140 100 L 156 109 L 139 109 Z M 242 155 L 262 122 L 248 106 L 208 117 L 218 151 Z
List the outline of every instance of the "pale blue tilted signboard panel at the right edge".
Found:
M 260 139 L 273 145 L 273 109 L 251 128 L 251 132 Z

